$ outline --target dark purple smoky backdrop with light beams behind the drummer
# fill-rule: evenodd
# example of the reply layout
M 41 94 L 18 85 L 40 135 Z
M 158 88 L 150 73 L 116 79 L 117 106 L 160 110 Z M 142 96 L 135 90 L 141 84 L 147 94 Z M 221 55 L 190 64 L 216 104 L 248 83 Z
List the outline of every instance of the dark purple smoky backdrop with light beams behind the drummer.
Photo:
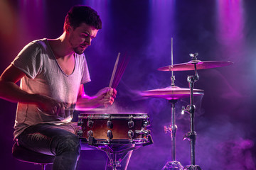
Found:
M 161 98 L 142 98 L 140 91 L 170 86 L 171 72 L 157 71 L 171 64 L 191 60 L 231 61 L 228 67 L 199 70 L 196 89 L 196 164 L 205 170 L 256 169 L 255 76 L 256 1 L 253 0 L 129 0 L 50 1 L 16 0 L 0 2 L 0 71 L 28 42 L 58 38 L 63 33 L 65 14 L 71 6 L 85 4 L 102 18 L 102 30 L 85 51 L 92 81 L 85 84 L 89 95 L 108 86 L 117 53 L 130 57 L 117 87 L 117 112 L 148 113 L 154 145 L 133 152 L 128 169 L 161 169 L 171 160 L 171 138 L 164 125 L 171 124 L 171 105 Z M 176 86 L 188 88 L 191 71 L 174 72 Z M 189 115 L 181 115 L 176 103 L 176 159 L 190 164 Z M 16 103 L 0 99 L 1 169 L 39 169 L 19 162 L 11 155 Z M 79 112 L 76 111 L 75 115 Z M 78 169 L 104 169 L 102 151 L 82 151 Z M 49 165 L 47 169 L 50 169 Z

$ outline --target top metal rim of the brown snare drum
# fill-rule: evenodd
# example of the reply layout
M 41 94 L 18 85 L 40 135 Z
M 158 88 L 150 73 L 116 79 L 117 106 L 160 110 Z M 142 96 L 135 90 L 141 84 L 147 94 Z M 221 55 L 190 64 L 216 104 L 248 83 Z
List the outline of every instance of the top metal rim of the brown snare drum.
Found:
M 147 113 L 80 113 L 78 118 L 90 118 L 90 119 L 147 119 L 149 115 Z

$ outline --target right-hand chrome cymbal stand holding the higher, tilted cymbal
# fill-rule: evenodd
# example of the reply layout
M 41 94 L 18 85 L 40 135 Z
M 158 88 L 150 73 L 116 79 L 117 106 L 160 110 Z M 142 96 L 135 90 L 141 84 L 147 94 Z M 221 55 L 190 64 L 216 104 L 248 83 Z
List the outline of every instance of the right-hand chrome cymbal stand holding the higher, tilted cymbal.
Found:
M 193 57 L 192 60 L 197 60 L 196 54 L 190 54 L 191 57 Z M 196 64 L 194 64 L 195 67 L 195 76 L 188 76 L 187 81 L 189 83 L 189 88 L 190 88 L 190 105 L 186 107 L 186 109 L 183 107 L 182 113 L 188 113 L 190 114 L 190 126 L 191 126 L 191 131 L 188 132 L 183 140 L 189 140 L 190 145 L 191 145 L 191 165 L 188 165 L 185 167 L 185 170 L 201 170 L 200 166 L 196 165 L 196 154 L 195 154 L 195 146 L 196 146 L 196 132 L 195 132 L 195 125 L 194 125 L 194 117 L 195 117 L 195 110 L 196 106 L 193 105 L 193 86 L 196 81 L 198 81 L 198 72 L 196 69 Z

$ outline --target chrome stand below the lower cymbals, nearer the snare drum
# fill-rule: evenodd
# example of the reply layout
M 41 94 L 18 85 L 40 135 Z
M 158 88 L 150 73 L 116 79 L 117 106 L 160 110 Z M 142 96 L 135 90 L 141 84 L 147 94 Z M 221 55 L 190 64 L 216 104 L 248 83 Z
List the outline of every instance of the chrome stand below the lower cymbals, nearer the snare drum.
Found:
M 169 102 L 171 103 L 171 125 L 168 128 L 165 126 L 164 131 L 171 133 L 171 161 L 167 162 L 162 170 L 183 170 L 181 163 L 176 161 L 175 103 L 177 100 L 169 100 Z

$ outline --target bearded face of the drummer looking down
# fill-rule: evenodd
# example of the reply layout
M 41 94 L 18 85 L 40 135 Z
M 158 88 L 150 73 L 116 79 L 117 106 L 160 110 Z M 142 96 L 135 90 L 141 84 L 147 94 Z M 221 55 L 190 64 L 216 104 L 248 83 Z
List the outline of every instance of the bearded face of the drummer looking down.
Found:
M 92 39 L 96 37 L 98 30 L 93 26 L 82 23 L 78 28 L 69 30 L 69 42 L 75 53 L 82 55 L 85 49 L 91 45 Z

